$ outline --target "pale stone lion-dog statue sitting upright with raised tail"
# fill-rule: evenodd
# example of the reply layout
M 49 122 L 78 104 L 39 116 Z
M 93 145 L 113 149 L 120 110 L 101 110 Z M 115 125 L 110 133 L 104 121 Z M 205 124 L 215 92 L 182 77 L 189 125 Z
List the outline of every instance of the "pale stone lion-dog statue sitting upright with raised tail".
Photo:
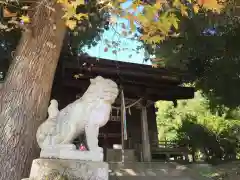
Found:
M 90 79 L 90 86 L 80 99 L 61 111 L 56 100 L 51 100 L 48 119 L 37 131 L 37 142 L 41 149 L 47 146 L 72 144 L 73 140 L 85 132 L 89 151 L 102 151 L 98 146 L 99 128 L 110 117 L 111 105 L 119 90 L 117 84 L 97 76 Z

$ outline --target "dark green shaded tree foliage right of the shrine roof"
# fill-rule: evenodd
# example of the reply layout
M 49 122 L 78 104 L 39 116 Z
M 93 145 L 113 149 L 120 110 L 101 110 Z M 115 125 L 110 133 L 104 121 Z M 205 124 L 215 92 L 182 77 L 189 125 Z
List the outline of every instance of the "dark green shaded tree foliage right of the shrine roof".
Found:
M 238 1 L 234 1 L 239 3 Z M 190 82 L 211 100 L 212 107 L 240 104 L 239 10 L 229 4 L 223 13 L 200 10 L 191 18 L 178 15 L 177 37 L 168 37 L 156 48 L 145 43 L 154 63 L 189 73 Z

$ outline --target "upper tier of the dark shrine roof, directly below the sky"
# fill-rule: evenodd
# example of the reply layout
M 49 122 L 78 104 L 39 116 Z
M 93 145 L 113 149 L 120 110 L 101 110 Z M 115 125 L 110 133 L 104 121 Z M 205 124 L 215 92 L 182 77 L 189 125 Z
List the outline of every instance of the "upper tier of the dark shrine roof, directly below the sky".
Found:
M 176 84 L 181 84 L 191 79 L 188 73 L 176 68 L 153 68 L 151 65 L 108 60 L 91 56 L 68 57 L 67 59 L 68 60 L 62 61 L 64 69 L 86 70 L 90 67 L 93 72 L 105 71 L 104 73 L 106 74 L 119 73 L 129 76 L 138 76 L 139 78 L 155 78 L 156 80 L 167 80 Z

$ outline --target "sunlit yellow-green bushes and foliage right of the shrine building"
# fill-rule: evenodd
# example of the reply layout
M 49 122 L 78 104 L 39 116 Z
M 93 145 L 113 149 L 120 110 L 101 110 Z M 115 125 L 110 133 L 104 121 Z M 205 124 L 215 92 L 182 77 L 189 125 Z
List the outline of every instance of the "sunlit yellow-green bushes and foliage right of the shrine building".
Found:
M 199 91 L 194 99 L 179 101 L 177 108 L 162 101 L 156 107 L 160 140 L 176 141 L 188 147 L 194 157 L 200 151 L 208 161 L 237 157 L 240 120 L 229 108 L 211 111 L 209 100 Z

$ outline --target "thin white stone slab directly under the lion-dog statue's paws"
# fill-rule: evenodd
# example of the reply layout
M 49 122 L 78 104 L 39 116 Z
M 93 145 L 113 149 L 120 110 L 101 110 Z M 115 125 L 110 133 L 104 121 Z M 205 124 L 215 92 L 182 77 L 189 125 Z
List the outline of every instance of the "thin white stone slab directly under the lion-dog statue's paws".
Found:
M 40 158 L 76 159 L 82 161 L 103 161 L 103 152 L 80 151 L 74 145 L 47 146 L 41 150 Z

